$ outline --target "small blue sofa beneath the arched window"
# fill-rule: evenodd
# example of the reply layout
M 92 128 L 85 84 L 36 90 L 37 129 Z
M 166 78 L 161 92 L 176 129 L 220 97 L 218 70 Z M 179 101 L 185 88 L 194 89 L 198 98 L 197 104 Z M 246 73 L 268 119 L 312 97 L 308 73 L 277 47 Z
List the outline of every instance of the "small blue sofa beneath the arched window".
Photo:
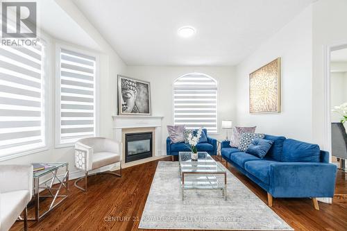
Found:
M 210 155 L 217 155 L 217 139 L 213 139 L 208 136 L 208 130 L 205 128 L 203 129 L 203 132 L 205 132 L 206 137 L 208 138 L 207 143 L 198 143 L 196 145 L 196 148 L 198 151 L 205 151 L 209 153 Z M 190 151 L 189 148 L 185 145 L 184 142 L 182 143 L 175 143 L 171 144 L 171 139 L 167 137 L 167 155 L 178 155 L 178 152 L 182 151 Z

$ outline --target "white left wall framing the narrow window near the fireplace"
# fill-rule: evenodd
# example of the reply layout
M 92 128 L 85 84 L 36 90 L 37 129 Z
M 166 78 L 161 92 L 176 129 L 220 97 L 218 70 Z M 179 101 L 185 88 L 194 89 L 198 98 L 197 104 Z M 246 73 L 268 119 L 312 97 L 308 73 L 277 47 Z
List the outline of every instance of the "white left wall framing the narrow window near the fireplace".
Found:
M 87 34 L 89 34 L 93 40 L 100 46 L 100 51 L 92 51 L 99 54 L 99 134 L 103 137 L 112 138 L 112 114 L 116 110 L 116 93 L 115 85 L 117 85 L 117 74 L 123 73 L 126 65 L 119 58 L 117 53 L 112 49 L 112 47 L 103 40 L 103 37 L 99 35 L 94 27 L 90 25 L 87 19 L 81 15 L 81 12 L 74 6 L 73 3 L 69 1 L 58 1 L 61 3 L 60 6 L 64 8 L 69 16 L 77 22 L 81 28 L 83 28 Z M 66 10 L 66 8 L 68 10 Z M 57 41 L 53 37 L 46 35 L 47 37 L 47 50 L 49 57 L 47 61 L 49 62 L 49 70 L 47 72 L 47 78 L 49 80 L 50 91 L 49 91 L 49 148 L 46 151 L 33 153 L 31 155 L 24 155 L 22 157 L 17 157 L 14 159 L 6 160 L 0 162 L 0 164 L 31 164 L 34 162 L 69 162 L 69 170 L 72 173 L 72 178 L 74 178 L 74 173 L 76 169 L 74 167 L 74 148 L 55 148 L 54 147 L 54 92 L 55 92 L 55 49 L 56 42 L 59 44 L 67 44 L 76 49 L 85 49 L 85 47 L 78 46 L 78 38 L 71 44 L 70 42 Z

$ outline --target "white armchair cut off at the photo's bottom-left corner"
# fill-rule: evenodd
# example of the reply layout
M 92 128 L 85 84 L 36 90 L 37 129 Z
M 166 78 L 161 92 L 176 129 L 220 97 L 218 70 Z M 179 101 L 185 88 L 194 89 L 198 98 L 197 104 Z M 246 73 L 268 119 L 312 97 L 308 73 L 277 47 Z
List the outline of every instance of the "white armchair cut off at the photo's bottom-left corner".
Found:
M 26 205 L 32 196 L 32 165 L 0 165 L 0 231 L 9 230 L 22 212 L 27 230 Z

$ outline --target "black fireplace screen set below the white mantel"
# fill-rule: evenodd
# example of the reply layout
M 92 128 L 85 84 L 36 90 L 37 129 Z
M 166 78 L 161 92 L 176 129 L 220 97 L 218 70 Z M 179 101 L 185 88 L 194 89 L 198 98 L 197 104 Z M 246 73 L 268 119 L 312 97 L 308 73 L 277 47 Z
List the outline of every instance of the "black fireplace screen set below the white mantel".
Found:
M 152 156 L 152 132 L 128 133 L 125 144 L 126 162 Z

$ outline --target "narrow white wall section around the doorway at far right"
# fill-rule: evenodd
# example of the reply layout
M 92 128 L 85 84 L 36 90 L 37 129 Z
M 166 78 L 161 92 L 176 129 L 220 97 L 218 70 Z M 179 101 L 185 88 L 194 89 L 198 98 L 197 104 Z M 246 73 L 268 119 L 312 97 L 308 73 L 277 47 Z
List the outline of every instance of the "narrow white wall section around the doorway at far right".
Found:
M 312 9 L 312 134 L 315 143 L 330 150 L 324 129 L 324 50 L 325 46 L 347 44 L 347 1 L 320 0 Z

